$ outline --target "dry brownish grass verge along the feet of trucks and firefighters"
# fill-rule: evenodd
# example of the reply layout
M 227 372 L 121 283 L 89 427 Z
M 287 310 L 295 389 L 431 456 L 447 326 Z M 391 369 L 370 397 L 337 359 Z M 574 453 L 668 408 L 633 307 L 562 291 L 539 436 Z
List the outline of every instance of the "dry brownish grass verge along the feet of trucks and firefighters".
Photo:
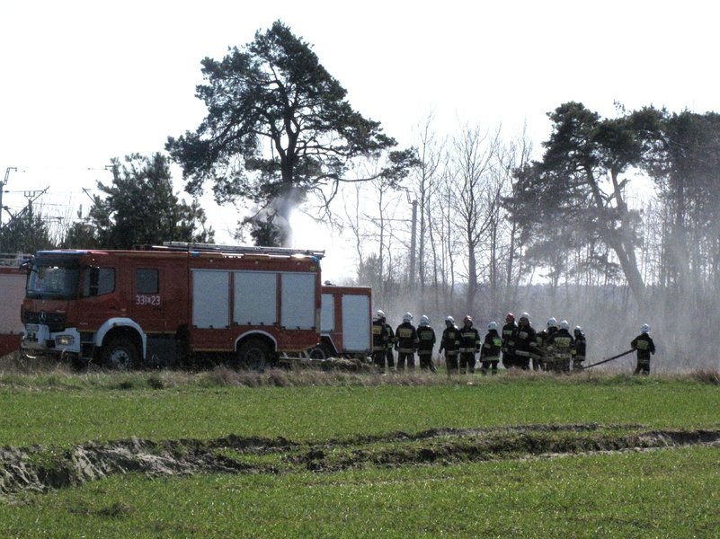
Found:
M 593 369 L 571 372 L 567 375 L 519 369 L 501 369 L 497 376 L 483 376 L 478 370 L 473 375 L 451 374 L 442 369 L 434 374 L 414 370 L 378 373 L 374 369 L 327 368 L 318 365 L 297 365 L 268 368 L 263 372 L 237 370 L 218 365 L 208 370 L 147 369 L 118 372 L 91 365 L 77 371 L 64 362 L 39 358 L 10 356 L 0 359 L 0 387 L 31 389 L 104 388 L 120 390 L 163 390 L 177 387 L 299 387 L 299 386 L 431 386 L 431 385 L 484 385 L 542 382 L 555 380 L 560 384 L 656 384 L 662 380 L 720 385 L 720 372 L 698 369 L 693 372 L 658 373 L 651 376 L 633 376 L 632 372 Z

